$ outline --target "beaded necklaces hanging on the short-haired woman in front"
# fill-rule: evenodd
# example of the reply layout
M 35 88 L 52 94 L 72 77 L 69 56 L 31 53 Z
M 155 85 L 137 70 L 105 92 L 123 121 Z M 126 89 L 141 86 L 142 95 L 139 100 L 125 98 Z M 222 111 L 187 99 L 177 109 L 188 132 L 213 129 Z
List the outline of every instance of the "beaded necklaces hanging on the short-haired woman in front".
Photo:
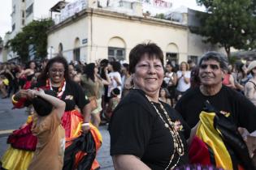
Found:
M 174 164 L 171 169 L 175 168 L 177 166 L 177 164 L 180 161 L 180 157 L 182 155 L 184 155 L 184 145 L 183 142 L 180 138 L 180 134 L 178 132 L 178 129 L 176 128 L 176 122 L 171 121 L 171 118 L 169 117 L 166 109 L 163 107 L 163 104 L 158 101 L 158 104 L 160 104 L 160 108 L 163 110 L 164 116 L 167 118 L 167 121 L 165 121 L 161 115 L 161 113 L 158 111 L 158 108 L 156 108 L 156 106 L 154 105 L 154 102 L 150 100 L 149 96 L 146 96 L 146 98 L 150 101 L 150 103 L 153 105 L 156 113 L 158 113 L 158 116 L 161 118 L 161 120 L 163 121 L 164 126 L 170 131 L 171 137 L 173 139 L 173 147 L 174 147 L 174 151 L 171 154 L 171 159 L 169 164 L 167 165 L 167 168 L 169 168 L 169 166 L 171 165 L 172 159 L 174 158 L 175 153 L 177 153 L 179 155 L 179 158 L 176 162 L 176 164 Z

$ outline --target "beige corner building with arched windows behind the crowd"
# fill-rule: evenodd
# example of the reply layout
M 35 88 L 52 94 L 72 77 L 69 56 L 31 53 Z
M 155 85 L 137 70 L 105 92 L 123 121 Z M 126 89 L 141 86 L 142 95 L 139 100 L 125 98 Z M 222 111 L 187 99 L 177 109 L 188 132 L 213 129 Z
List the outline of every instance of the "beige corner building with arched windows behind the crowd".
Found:
M 68 62 L 89 63 L 113 57 L 128 61 L 128 54 L 135 45 L 149 41 L 163 49 L 166 61 L 178 63 L 188 59 L 197 62 L 202 53 L 216 50 L 213 45 L 203 44 L 201 36 L 189 32 L 188 19 L 191 17 L 188 17 L 188 10 L 180 12 L 180 20 L 171 21 L 143 14 L 140 2 L 129 1 L 130 5 L 125 5 L 129 9 L 126 8 L 124 13 L 88 2 L 85 10 L 50 29 L 49 57 L 61 52 Z

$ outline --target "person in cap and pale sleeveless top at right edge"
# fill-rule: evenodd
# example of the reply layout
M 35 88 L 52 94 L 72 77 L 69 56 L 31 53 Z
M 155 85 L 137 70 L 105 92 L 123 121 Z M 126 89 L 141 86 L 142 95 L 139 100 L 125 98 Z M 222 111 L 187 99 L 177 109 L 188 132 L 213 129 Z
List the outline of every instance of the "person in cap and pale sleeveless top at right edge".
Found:
M 256 105 L 256 61 L 249 63 L 247 71 L 252 78 L 245 84 L 245 96 Z

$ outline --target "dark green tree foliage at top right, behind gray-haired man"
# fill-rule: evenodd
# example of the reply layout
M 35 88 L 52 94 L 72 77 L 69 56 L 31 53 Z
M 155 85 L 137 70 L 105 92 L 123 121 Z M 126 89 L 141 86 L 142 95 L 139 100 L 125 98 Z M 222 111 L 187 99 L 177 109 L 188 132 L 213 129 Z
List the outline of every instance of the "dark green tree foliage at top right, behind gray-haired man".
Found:
M 206 42 L 230 49 L 254 49 L 256 46 L 256 0 L 197 0 L 206 13 L 197 13 L 201 26 L 192 31 Z

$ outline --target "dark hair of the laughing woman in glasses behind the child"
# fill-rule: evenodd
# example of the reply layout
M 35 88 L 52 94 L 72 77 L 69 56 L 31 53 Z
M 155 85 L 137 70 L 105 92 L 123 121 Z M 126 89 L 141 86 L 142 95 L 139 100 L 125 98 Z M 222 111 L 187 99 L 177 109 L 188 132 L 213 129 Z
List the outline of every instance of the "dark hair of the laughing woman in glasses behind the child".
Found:
M 65 78 L 66 80 L 70 80 L 69 74 L 68 74 L 68 64 L 67 64 L 67 60 L 66 60 L 65 57 L 63 57 L 63 55 L 61 55 L 61 54 L 58 54 L 56 57 L 51 58 L 51 59 L 47 62 L 46 68 L 45 68 L 45 69 L 43 70 L 43 72 L 40 74 L 39 79 L 42 80 L 42 81 L 44 81 L 44 80 L 46 80 L 46 79 L 49 78 L 48 72 L 49 72 L 49 70 L 50 70 L 50 67 L 53 66 L 53 64 L 54 64 L 55 62 L 59 62 L 59 63 L 62 63 L 62 64 L 63 64 L 63 66 L 64 66 L 64 78 Z

